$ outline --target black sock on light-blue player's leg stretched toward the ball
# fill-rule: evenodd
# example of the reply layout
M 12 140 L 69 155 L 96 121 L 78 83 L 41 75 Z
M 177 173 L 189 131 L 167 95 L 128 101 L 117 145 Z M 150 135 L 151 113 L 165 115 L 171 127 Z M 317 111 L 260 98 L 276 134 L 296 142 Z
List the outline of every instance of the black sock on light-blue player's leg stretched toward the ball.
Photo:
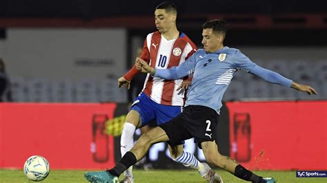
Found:
M 130 166 L 135 164 L 137 162 L 137 159 L 133 153 L 128 151 L 125 155 L 123 155 L 123 158 L 119 162 L 117 162 L 116 166 L 112 169 L 108 170 L 108 173 L 111 175 L 115 175 L 116 177 L 119 177 L 123 171 L 126 171 Z

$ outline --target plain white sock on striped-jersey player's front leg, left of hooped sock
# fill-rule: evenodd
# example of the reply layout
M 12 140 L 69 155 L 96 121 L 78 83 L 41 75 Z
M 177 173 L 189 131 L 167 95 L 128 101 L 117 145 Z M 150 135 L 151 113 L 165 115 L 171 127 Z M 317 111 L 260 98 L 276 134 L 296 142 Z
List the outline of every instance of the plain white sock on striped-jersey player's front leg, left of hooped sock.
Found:
M 121 132 L 120 138 L 120 151 L 121 157 L 125 155 L 134 145 L 134 133 L 136 127 L 130 122 L 125 122 L 123 124 L 123 131 Z M 133 177 L 132 175 L 133 166 L 130 166 L 126 171 L 124 171 L 125 176 Z

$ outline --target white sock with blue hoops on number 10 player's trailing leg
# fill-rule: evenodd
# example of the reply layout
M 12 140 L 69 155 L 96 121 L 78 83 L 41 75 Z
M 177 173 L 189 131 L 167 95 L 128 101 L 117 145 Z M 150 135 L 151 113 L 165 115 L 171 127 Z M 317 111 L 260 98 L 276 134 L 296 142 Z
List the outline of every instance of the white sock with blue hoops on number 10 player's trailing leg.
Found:
M 204 168 L 204 165 L 195 158 L 195 156 L 191 153 L 188 153 L 186 151 L 183 151 L 179 157 L 176 159 L 172 159 L 175 162 L 179 162 L 181 164 L 184 164 L 186 167 L 190 167 L 191 169 L 195 169 L 196 171 L 200 171 Z

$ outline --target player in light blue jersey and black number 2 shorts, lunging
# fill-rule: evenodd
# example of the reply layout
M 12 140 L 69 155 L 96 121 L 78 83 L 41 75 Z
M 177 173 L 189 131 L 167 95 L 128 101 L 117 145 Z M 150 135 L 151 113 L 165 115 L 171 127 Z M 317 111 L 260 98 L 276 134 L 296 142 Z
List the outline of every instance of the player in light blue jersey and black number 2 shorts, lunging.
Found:
M 215 131 L 221 108 L 221 98 L 224 95 L 232 76 L 238 70 L 255 74 L 270 83 L 285 87 L 293 87 L 301 92 L 317 94 L 313 87 L 295 83 L 276 72 L 264 69 L 235 48 L 224 46 L 226 23 L 222 20 L 212 20 L 204 23 L 204 49 L 197 50 L 188 61 L 170 69 L 155 69 L 148 63 L 137 58 L 135 65 L 142 72 L 164 79 L 176 79 L 193 74 L 193 80 L 188 90 L 186 107 L 181 115 L 155 127 L 143 134 L 138 142 L 126 155 L 117 162 L 113 169 L 101 172 L 86 173 L 89 181 L 112 181 L 129 166 L 143 158 L 151 144 L 168 142 L 177 145 L 181 140 L 195 138 L 195 142 L 204 151 L 207 162 L 224 169 L 242 180 L 251 182 L 275 182 L 272 177 L 261 177 L 252 173 L 232 158 L 221 155 L 215 142 Z M 115 181 L 112 181 L 115 182 Z

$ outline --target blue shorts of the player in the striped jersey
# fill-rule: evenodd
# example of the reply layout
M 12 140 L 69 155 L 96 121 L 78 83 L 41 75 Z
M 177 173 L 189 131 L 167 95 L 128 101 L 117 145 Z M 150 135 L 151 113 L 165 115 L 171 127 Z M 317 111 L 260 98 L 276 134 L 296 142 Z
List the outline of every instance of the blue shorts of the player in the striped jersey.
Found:
M 146 94 L 141 93 L 135 98 L 130 110 L 135 110 L 141 117 L 141 127 L 148 125 L 152 120 L 157 120 L 157 125 L 163 124 L 181 114 L 181 106 L 161 105 L 151 100 Z

